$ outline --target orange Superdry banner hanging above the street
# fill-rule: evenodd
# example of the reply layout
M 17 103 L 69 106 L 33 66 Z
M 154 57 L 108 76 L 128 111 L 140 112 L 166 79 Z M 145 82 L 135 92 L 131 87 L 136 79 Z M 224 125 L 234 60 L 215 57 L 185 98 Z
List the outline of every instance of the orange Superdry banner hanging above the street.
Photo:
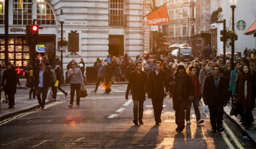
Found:
M 147 15 L 148 25 L 158 25 L 170 22 L 166 4 Z

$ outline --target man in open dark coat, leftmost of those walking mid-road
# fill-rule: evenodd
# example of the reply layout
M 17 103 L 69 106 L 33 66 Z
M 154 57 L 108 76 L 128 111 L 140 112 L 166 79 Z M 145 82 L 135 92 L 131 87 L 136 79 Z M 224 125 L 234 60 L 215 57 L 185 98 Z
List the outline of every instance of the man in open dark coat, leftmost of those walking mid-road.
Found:
M 133 100 L 133 123 L 135 125 L 138 125 L 138 119 L 139 123 L 142 125 L 144 124 L 142 122 L 143 118 L 143 104 L 146 100 L 145 98 L 145 87 L 147 92 L 150 92 L 150 85 L 149 85 L 149 79 L 148 74 L 142 71 L 142 62 L 139 61 L 136 63 L 136 70 L 130 73 L 130 79 L 129 83 L 127 85 L 127 90 L 125 94 L 126 100 L 128 100 L 128 94 L 132 88 L 132 100 Z M 138 111 L 139 111 L 139 117 L 138 117 Z

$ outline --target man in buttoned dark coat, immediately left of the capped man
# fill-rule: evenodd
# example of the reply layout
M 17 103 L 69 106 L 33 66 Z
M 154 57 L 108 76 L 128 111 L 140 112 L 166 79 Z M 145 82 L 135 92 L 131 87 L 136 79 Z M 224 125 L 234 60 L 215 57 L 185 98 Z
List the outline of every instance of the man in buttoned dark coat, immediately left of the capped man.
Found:
M 149 97 L 151 97 L 154 109 L 156 125 L 161 123 L 161 114 L 163 110 L 163 101 L 165 97 L 164 87 L 168 87 L 168 81 L 165 71 L 161 70 L 162 63 L 156 62 L 156 70 L 149 74 L 150 90 Z

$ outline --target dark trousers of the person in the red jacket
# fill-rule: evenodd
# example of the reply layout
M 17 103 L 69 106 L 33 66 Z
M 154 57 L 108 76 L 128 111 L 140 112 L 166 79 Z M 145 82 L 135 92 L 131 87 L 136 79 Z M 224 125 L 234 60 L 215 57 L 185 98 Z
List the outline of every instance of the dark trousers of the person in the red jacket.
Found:
M 200 110 L 199 110 L 199 100 L 198 97 L 195 98 L 194 100 L 189 100 L 188 101 L 188 106 L 186 109 L 186 121 L 190 121 L 190 111 L 191 111 L 191 105 L 193 103 L 194 109 L 195 109 L 195 114 L 197 117 L 197 121 L 201 120 L 201 115 L 200 115 Z

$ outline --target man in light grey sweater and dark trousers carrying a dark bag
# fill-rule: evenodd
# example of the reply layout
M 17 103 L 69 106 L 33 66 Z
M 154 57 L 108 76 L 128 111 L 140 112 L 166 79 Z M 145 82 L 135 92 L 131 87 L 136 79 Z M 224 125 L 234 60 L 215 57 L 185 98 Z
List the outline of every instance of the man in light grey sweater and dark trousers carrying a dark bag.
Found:
M 70 108 L 73 108 L 74 102 L 74 95 L 76 90 L 76 107 L 79 108 L 80 104 L 80 97 L 77 92 L 80 90 L 80 87 L 84 85 L 83 75 L 79 68 L 76 68 L 76 63 L 71 62 L 71 67 L 68 71 L 67 78 L 71 78 L 71 85 L 70 85 L 70 104 L 68 105 Z

